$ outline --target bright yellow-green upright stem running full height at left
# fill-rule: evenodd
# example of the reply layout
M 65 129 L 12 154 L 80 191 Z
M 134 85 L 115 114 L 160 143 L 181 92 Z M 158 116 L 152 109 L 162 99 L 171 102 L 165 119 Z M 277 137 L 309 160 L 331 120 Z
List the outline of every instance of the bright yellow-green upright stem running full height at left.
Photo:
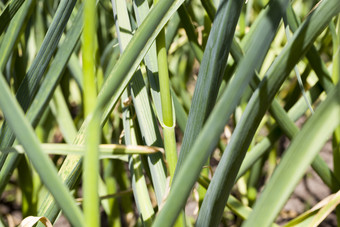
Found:
M 84 6 L 83 32 L 83 75 L 84 75 L 84 113 L 90 119 L 86 133 L 86 151 L 84 157 L 83 190 L 84 214 L 86 226 L 99 226 L 98 173 L 100 142 L 100 114 L 95 110 L 95 51 L 96 51 L 96 1 L 87 0 Z

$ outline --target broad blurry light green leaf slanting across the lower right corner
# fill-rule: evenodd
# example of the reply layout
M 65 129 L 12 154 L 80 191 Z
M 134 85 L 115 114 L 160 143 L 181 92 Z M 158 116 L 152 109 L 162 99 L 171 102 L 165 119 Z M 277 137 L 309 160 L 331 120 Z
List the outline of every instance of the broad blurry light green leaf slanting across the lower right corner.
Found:
M 254 222 L 267 226 L 274 221 L 307 167 L 332 131 L 339 125 L 339 100 L 340 83 L 330 92 L 327 99 L 320 104 L 315 114 L 293 139 L 244 226 L 252 226 Z M 259 216 L 263 213 L 266 216 Z

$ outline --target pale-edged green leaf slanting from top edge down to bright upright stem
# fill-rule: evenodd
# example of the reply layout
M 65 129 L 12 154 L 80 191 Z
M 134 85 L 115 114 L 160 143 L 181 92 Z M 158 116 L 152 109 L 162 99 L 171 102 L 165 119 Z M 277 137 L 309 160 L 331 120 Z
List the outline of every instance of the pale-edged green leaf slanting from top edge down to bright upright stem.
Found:
M 126 47 L 127 51 L 122 54 L 117 62 L 117 67 L 114 67 L 105 86 L 103 86 L 103 91 L 99 94 L 98 108 L 99 106 L 104 108 L 106 105 L 104 116 L 108 116 L 112 111 L 156 36 L 183 2 L 184 0 L 160 1 L 143 20 L 143 23 Z M 133 46 L 133 48 L 130 46 Z M 105 104 L 106 102 L 109 102 L 109 104 Z

